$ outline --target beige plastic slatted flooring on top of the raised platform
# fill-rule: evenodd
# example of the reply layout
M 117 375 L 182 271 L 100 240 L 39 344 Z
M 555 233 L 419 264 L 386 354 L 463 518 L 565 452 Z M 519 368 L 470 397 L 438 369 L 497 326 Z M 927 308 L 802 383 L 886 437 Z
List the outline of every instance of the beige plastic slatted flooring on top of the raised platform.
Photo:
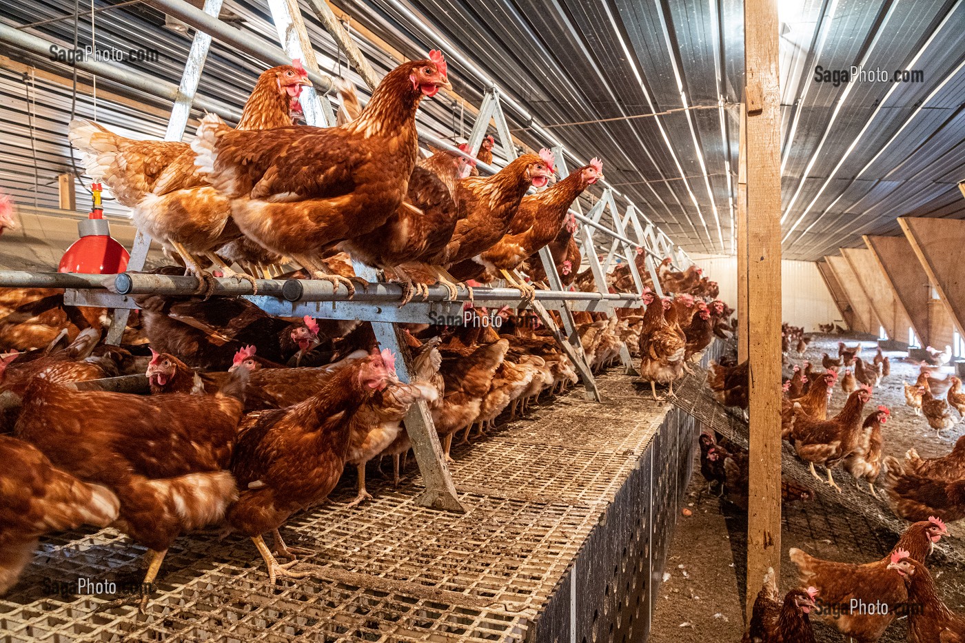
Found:
M 312 571 L 304 579 L 268 585 L 250 541 L 218 540 L 210 531 L 171 548 L 145 613 L 133 606 L 96 611 L 117 597 L 58 594 L 51 585 L 78 578 L 136 583 L 144 550 L 109 529 L 48 537 L 0 598 L 0 640 L 529 640 L 609 504 L 650 460 L 644 454 L 661 425 L 682 417 L 670 403 L 644 397 L 648 389 L 618 369 L 598 383 L 603 405 L 584 401 L 577 388 L 455 448 L 452 471 L 464 515 L 418 506 L 417 472 L 394 489 L 373 467 L 375 499 L 346 509 L 354 496 L 349 475 L 329 502 L 282 529 L 289 545 L 315 551 L 298 568 Z M 648 466 L 664 475 L 662 468 L 676 461 Z M 654 480 L 654 492 L 657 482 L 682 489 L 676 480 Z M 662 528 L 672 529 L 673 518 Z

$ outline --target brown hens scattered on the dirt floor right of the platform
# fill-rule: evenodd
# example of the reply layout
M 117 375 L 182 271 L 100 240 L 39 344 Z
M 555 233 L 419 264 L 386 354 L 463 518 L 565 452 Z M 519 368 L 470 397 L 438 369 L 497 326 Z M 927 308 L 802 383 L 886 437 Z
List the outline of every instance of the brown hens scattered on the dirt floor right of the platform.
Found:
M 787 324 L 783 336 L 785 355 L 803 353 L 810 341 L 801 328 Z M 965 517 L 965 437 L 941 458 L 922 459 L 914 448 L 904 461 L 883 455 L 882 426 L 891 411 L 877 405 L 865 415 L 864 409 L 873 389 L 890 375 L 890 359 L 878 349 L 865 360 L 860 344 L 839 343 L 838 348 L 837 357 L 822 353 L 823 371 L 808 361 L 793 365 L 786 357 L 789 376 L 784 382 L 782 437 L 808 462 L 814 478 L 833 489 L 841 491 L 832 475 L 839 466 L 856 485 L 866 482 L 875 497 L 879 497 L 875 483 L 885 479 L 896 516 L 912 524 L 887 556 L 865 564 L 825 561 L 791 547 L 788 555 L 797 566 L 802 589 L 791 590 L 782 599 L 774 574 L 768 573 L 744 640 L 813 642 L 809 619 L 814 611 L 848 640 L 859 643 L 879 640 L 902 616 L 908 617 L 908 640 L 914 643 L 965 641 L 965 617 L 953 614 L 938 598 L 934 578 L 924 565 L 933 545 L 948 535 L 946 522 Z M 918 381 L 904 383 L 905 400 L 941 432 L 954 424 L 951 407 L 965 419 L 965 395 L 960 393 L 958 377 L 938 377 L 940 367 L 951 359 L 951 349 L 929 347 L 928 353 Z M 747 362 L 711 364 L 707 376 L 719 402 L 743 408 L 748 403 L 747 381 Z M 839 385 L 846 401 L 837 415 L 828 417 L 828 402 Z M 746 507 L 746 452 L 720 436 L 703 433 L 701 462 L 710 488 L 719 487 L 721 494 L 742 500 Z M 815 464 L 825 467 L 826 480 L 815 471 Z M 782 495 L 785 501 L 807 500 L 813 492 L 785 479 Z

